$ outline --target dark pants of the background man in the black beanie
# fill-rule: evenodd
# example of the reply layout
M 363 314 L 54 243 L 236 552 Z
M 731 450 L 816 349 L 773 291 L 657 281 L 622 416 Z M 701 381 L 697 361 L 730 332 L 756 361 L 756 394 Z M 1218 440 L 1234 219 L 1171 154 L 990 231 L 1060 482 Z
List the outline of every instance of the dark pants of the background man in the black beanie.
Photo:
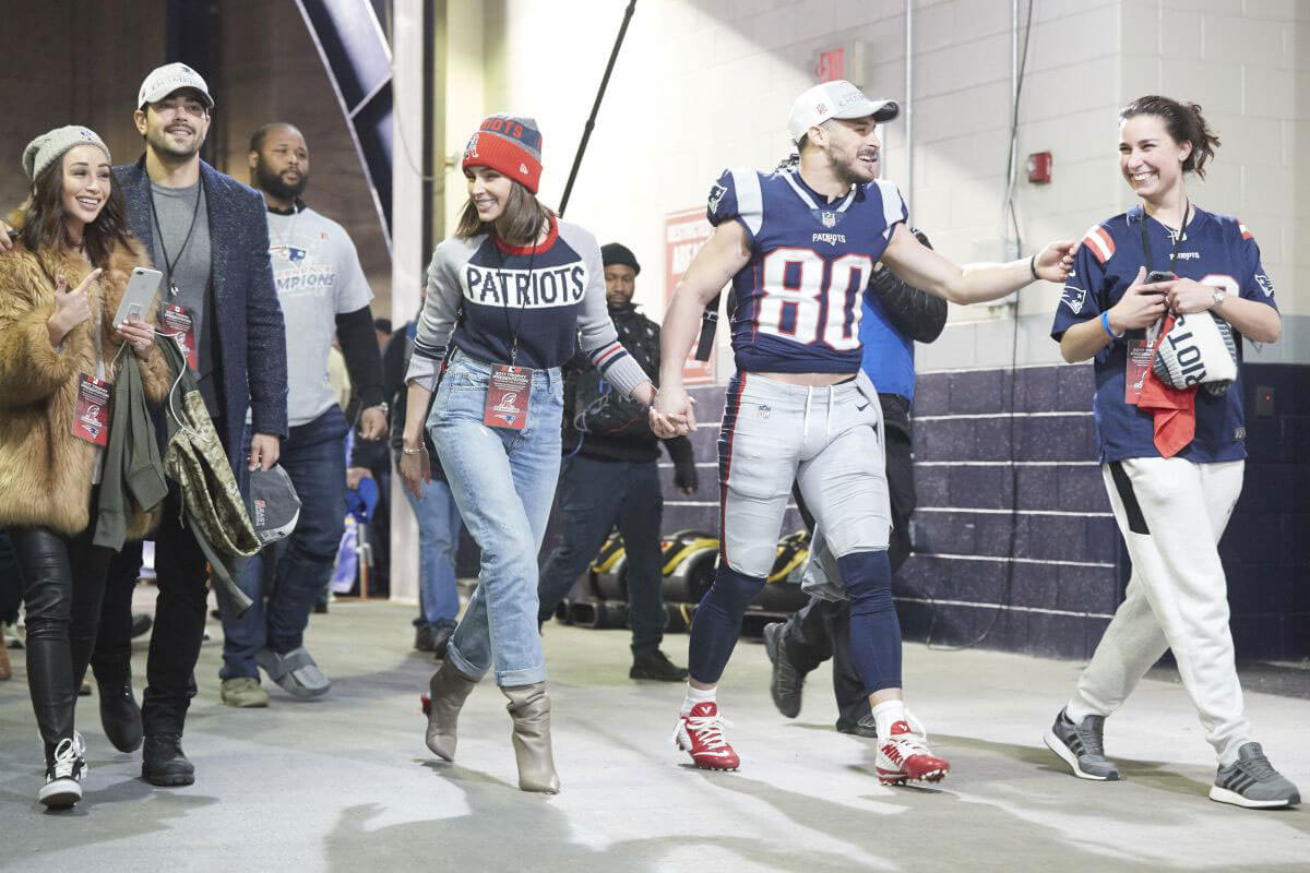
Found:
M 664 637 L 659 546 L 663 510 L 659 467 L 654 461 L 593 461 L 582 455 L 566 459 L 559 478 L 563 542 L 541 568 L 537 618 L 550 618 L 596 558 L 609 531 L 618 525 L 627 552 L 627 624 L 633 628 L 633 650 L 659 648 Z

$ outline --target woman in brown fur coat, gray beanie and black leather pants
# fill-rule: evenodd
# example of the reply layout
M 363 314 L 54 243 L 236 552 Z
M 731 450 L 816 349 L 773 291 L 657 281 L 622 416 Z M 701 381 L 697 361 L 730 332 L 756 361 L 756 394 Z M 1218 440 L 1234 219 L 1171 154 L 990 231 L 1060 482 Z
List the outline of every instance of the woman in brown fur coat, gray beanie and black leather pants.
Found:
M 114 381 L 124 344 L 155 406 L 169 373 L 149 322 L 113 327 L 128 275 L 149 262 L 127 232 L 103 141 L 62 127 L 33 140 L 22 164 L 31 196 L 10 216 L 14 245 L 0 254 L 0 527 L 9 529 L 28 610 L 28 682 L 46 747 L 38 797 L 71 806 L 85 772 L 73 704 L 113 555 L 92 544 L 103 454 L 96 441 L 109 416 L 97 424 L 88 408 L 100 406 L 90 380 Z M 132 508 L 127 535 L 140 538 L 153 518 Z

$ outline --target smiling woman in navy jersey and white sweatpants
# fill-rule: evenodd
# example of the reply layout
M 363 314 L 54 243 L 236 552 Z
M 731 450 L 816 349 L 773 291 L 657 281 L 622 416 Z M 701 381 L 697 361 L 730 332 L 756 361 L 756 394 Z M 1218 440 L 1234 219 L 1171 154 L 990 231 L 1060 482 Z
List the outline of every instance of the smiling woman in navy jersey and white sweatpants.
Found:
M 1141 97 L 1119 119 L 1119 166 L 1140 203 L 1083 238 L 1051 335 L 1066 361 L 1094 359 L 1102 472 L 1133 572 L 1045 742 L 1074 775 L 1119 779 L 1104 755 L 1104 720 L 1172 649 L 1218 758 L 1210 797 L 1288 806 L 1300 802 L 1297 789 L 1251 741 L 1243 713 L 1218 555 L 1246 458 L 1241 369 L 1226 390 L 1175 390 L 1150 366 L 1157 335 L 1176 317 L 1221 319 L 1238 357 L 1242 336 L 1276 342 L 1273 284 L 1246 226 L 1187 196 L 1186 177 L 1204 178 L 1220 144 L 1201 107 Z M 1146 281 L 1159 272 L 1175 277 Z

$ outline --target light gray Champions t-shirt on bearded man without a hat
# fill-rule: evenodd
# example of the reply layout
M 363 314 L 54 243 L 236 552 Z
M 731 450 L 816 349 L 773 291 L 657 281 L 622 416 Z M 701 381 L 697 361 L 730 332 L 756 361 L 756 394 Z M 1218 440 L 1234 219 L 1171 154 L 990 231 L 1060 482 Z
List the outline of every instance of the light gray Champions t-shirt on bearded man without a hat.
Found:
M 328 382 L 337 315 L 363 309 L 373 292 L 345 228 L 308 207 L 269 213 L 269 260 L 287 322 L 287 424 L 296 427 L 337 404 Z

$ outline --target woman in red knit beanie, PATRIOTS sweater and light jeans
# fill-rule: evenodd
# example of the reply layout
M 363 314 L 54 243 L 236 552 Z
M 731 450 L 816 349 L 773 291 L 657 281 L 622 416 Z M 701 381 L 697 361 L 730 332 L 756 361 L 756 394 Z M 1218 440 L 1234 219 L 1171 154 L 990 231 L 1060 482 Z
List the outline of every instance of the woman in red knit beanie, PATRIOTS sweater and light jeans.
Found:
M 559 475 L 559 365 L 580 340 L 616 390 L 648 406 L 655 389 L 617 342 L 595 237 L 536 198 L 536 122 L 491 115 L 469 140 L 462 169 L 469 202 L 455 236 L 432 253 L 405 377 L 405 484 L 421 499 L 431 399 L 426 427 L 482 550 L 478 586 L 432 675 L 427 745 L 453 759 L 460 707 L 494 666 L 510 698 L 519 787 L 555 793 L 537 552 Z

